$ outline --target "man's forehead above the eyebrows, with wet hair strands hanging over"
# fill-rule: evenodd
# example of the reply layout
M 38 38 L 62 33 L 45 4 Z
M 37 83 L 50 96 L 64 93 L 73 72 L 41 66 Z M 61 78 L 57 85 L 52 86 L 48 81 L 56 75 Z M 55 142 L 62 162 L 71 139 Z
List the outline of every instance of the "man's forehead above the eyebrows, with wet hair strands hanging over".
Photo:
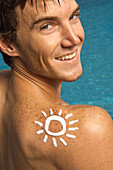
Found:
M 17 8 L 17 15 L 24 20 L 24 23 L 30 24 L 45 16 L 60 16 L 63 18 L 64 13 L 68 14 L 76 7 L 75 0 L 33 0 L 33 5 L 31 0 L 28 0 L 22 12 Z

